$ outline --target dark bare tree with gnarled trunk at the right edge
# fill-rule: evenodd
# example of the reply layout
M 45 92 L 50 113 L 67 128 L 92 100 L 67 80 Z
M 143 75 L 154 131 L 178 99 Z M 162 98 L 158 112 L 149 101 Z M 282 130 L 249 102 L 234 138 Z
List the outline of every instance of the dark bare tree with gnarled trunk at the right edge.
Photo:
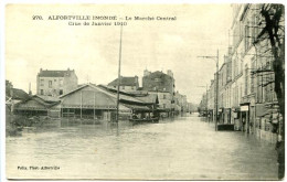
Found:
M 266 3 L 262 4 L 262 21 L 259 25 L 263 28 L 255 43 L 267 40 L 270 44 L 273 55 L 273 71 L 275 76 L 275 93 L 279 105 L 279 113 L 283 116 L 283 127 L 280 130 L 281 141 L 276 144 L 278 152 L 278 178 L 284 178 L 285 170 L 285 9 L 283 4 Z

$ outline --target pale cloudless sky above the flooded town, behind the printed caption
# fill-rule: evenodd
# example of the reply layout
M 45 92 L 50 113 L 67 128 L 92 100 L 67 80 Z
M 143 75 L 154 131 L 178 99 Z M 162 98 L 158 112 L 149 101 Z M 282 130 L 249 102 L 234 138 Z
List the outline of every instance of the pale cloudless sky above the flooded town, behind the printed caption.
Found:
M 41 15 L 43 20 L 32 20 Z M 83 25 L 84 20 L 47 20 L 50 15 L 116 15 L 123 26 L 121 75 L 173 72 L 176 90 L 200 103 L 214 77 L 215 56 L 227 53 L 231 4 L 8 4 L 6 7 L 6 79 L 35 94 L 43 69 L 75 69 L 78 84 L 108 84 L 117 77 L 120 26 Z M 119 20 L 126 17 L 176 17 L 176 21 Z M 82 25 L 68 25 L 79 22 Z M 111 22 L 96 21 L 92 22 Z

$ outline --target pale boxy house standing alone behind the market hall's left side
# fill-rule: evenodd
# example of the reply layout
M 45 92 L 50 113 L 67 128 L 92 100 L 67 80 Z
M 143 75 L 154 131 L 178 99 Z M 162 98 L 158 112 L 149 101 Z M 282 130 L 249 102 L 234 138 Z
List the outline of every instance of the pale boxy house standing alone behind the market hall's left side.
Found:
M 74 69 L 43 71 L 36 76 L 36 94 L 60 96 L 77 88 L 77 76 Z

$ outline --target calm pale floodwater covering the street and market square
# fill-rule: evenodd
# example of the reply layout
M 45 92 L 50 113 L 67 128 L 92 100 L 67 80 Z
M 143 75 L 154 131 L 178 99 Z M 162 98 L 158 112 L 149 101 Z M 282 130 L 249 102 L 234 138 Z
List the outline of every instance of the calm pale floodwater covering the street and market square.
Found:
M 66 124 L 7 137 L 10 179 L 277 180 L 276 161 L 274 144 L 214 131 L 195 115 L 136 126 Z

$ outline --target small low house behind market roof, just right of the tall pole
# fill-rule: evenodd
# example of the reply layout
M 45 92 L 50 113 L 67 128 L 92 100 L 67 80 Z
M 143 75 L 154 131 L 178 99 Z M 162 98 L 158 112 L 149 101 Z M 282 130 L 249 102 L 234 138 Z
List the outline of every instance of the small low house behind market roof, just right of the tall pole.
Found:
M 110 82 L 107 86 L 109 88 L 117 88 L 118 78 Z M 120 76 L 119 90 L 126 92 L 126 93 L 136 92 L 138 89 L 138 87 L 139 87 L 138 76 L 134 76 L 134 77 Z

